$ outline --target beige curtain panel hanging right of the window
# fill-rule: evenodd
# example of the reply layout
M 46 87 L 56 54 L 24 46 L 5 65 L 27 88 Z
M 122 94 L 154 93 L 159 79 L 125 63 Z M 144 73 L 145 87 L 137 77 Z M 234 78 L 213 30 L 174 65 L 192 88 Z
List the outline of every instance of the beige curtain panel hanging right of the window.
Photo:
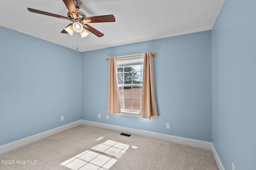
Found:
M 157 118 L 154 66 L 153 55 L 151 52 L 144 53 L 140 117 L 146 119 L 151 119 L 151 117 Z

